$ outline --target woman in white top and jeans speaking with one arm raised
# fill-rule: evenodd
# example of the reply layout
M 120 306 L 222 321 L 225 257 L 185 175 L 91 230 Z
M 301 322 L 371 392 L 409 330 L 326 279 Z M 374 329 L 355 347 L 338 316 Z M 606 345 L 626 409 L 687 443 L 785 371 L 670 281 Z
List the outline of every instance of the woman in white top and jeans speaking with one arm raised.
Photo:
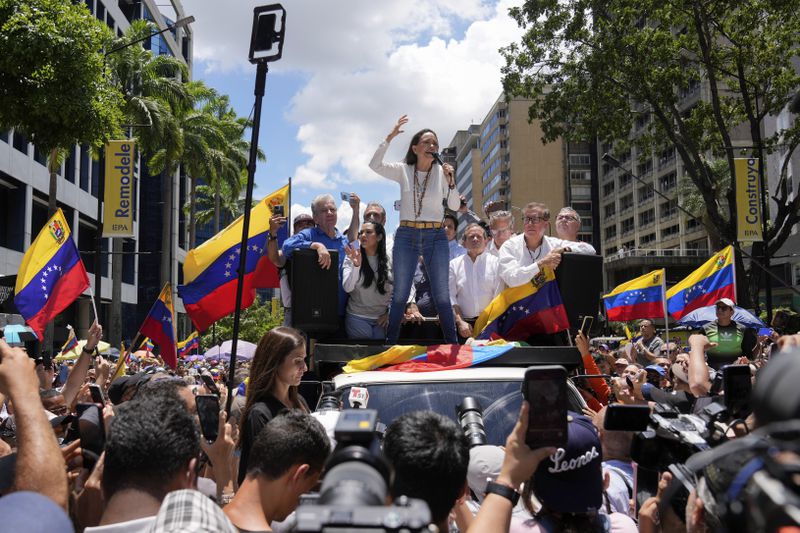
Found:
M 400 184 L 400 227 L 395 233 L 392 250 L 394 292 L 389 308 L 388 344 L 395 344 L 400 334 L 400 322 L 420 256 L 431 282 L 433 300 L 439 313 L 445 342 L 457 343 L 456 324 L 450 305 L 449 261 L 447 235 L 442 228 L 443 203 L 453 211 L 459 209 L 461 198 L 455 190 L 453 167 L 439 160 L 439 139 L 430 129 L 422 129 L 411 137 L 405 159 L 395 163 L 383 161 L 392 139 L 403 133 L 408 116 L 397 120 L 386 139 L 378 146 L 370 168 L 384 178 Z

